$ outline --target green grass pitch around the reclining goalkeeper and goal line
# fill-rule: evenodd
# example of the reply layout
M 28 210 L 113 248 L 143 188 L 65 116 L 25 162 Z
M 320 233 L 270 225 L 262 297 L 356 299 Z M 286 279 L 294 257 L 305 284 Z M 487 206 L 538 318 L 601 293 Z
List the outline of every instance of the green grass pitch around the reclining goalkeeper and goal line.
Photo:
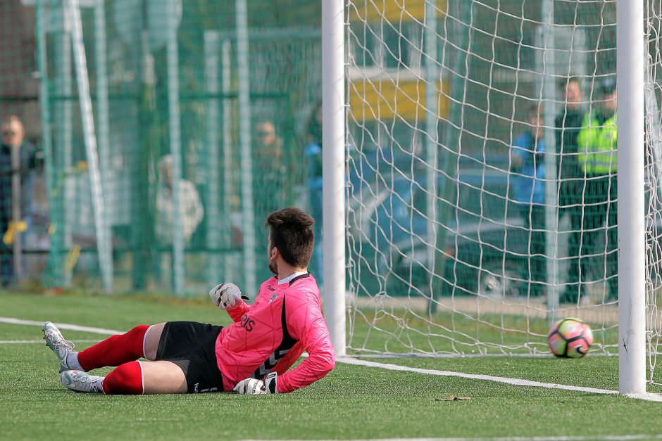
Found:
M 201 302 L 101 295 L 0 293 L 0 316 L 118 330 L 166 320 L 228 322 L 223 312 Z M 63 333 L 79 342 L 104 337 L 79 331 Z M 0 323 L 3 439 L 646 439 L 662 433 L 661 403 L 343 363 L 337 363 L 323 380 L 287 395 L 76 394 L 59 383 L 58 364 L 43 343 L 8 343 L 41 338 L 39 326 Z M 89 344 L 77 343 L 77 347 Z M 617 357 L 373 361 L 618 388 Z M 444 401 L 449 395 L 470 400 Z

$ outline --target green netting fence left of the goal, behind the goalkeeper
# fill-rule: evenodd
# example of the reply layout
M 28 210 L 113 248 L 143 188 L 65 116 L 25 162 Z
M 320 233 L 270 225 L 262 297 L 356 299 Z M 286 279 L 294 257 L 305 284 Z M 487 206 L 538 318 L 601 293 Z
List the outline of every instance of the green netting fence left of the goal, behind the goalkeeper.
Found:
M 46 284 L 183 294 L 232 280 L 251 293 L 268 276 L 266 215 L 309 205 L 320 5 L 236 4 L 37 2 Z

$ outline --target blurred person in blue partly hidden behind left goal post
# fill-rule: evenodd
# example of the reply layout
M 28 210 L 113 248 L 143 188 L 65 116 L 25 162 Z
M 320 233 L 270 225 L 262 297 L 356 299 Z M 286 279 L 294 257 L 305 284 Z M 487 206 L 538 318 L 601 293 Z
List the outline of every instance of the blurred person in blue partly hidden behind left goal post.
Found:
M 315 248 L 309 268 L 320 288 L 323 287 L 322 264 L 322 103 L 318 103 L 306 127 L 306 178 L 311 215 L 315 218 Z

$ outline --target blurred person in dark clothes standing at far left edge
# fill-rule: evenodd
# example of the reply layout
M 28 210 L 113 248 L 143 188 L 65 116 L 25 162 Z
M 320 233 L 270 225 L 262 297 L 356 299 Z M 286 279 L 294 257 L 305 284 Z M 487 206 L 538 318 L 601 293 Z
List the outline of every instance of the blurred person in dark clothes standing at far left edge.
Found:
M 30 200 L 32 197 L 32 177 L 30 170 L 35 168 L 35 148 L 24 143 L 25 129 L 18 116 L 10 115 L 0 124 L 0 284 L 8 286 L 15 274 L 11 226 L 14 214 L 30 226 Z M 13 205 L 12 191 L 16 180 L 20 185 L 20 204 Z M 16 211 L 16 213 L 14 213 Z M 6 234 L 6 233 L 9 234 Z M 23 236 L 18 236 L 23 241 Z

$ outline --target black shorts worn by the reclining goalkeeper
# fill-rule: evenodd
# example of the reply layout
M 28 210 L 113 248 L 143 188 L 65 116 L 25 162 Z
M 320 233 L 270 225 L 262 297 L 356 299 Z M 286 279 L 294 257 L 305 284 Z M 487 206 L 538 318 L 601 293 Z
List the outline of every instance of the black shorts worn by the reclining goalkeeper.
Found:
M 216 338 L 223 326 L 168 321 L 158 340 L 156 360 L 173 362 L 186 377 L 189 393 L 223 392 L 216 363 Z

